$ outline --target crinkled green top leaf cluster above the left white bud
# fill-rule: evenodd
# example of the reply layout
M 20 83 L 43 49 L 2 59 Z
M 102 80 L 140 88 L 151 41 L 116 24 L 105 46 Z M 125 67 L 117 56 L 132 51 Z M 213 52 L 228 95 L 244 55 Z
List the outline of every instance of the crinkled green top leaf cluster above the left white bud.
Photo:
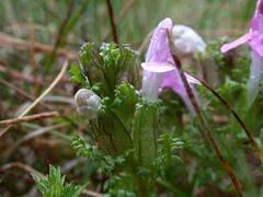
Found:
M 139 82 L 137 69 L 138 53 L 128 46 L 103 43 L 96 47 L 87 43 L 80 50 L 81 72 L 91 85 L 96 85 L 100 96 L 114 97 L 114 89 L 122 81 Z

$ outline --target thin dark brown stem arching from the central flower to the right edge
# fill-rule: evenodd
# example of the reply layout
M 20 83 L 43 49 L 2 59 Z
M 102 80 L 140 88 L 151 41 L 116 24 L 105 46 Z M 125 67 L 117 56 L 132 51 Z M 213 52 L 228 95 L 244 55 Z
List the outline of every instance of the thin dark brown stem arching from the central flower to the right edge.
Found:
M 237 119 L 237 121 L 240 124 L 240 126 L 243 128 L 247 137 L 249 138 L 252 147 L 254 148 L 256 157 L 260 159 L 261 163 L 263 164 L 263 155 L 261 152 L 261 149 L 256 141 L 254 140 L 252 134 L 249 131 L 248 127 L 245 126 L 244 121 L 241 119 L 241 117 L 238 115 L 238 113 L 231 107 L 228 102 L 221 97 L 213 88 L 210 88 L 204 80 L 198 79 L 197 77 L 191 74 L 193 78 L 198 80 L 203 86 L 205 86 L 207 90 L 209 90 L 233 115 L 233 117 Z

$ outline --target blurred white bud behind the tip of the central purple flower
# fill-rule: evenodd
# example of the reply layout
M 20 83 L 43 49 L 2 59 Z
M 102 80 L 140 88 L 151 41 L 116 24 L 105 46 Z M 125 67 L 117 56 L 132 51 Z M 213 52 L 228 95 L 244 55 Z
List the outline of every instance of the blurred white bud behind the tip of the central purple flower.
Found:
M 204 53 L 206 44 L 203 38 L 191 27 L 174 25 L 172 28 L 174 45 L 180 55 L 197 55 Z

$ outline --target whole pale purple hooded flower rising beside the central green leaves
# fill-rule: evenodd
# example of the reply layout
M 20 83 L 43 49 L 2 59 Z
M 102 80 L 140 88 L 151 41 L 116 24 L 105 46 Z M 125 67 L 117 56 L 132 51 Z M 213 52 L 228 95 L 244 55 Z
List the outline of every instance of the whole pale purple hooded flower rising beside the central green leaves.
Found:
M 155 30 L 146 62 L 141 63 L 144 69 L 141 93 L 149 100 L 157 100 L 162 89 L 170 88 L 182 97 L 191 113 L 195 114 L 170 51 L 167 31 L 171 31 L 172 25 L 171 19 L 164 19 Z M 188 74 L 185 76 L 191 84 L 198 83 Z M 195 93 L 193 86 L 192 90 Z

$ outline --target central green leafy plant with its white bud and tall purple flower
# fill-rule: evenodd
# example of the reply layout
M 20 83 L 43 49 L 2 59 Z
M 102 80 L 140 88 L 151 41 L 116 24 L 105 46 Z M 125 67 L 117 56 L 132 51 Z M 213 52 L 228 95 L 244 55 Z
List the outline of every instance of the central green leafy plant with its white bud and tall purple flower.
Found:
M 175 144 L 169 144 L 164 136 L 158 140 L 161 132 L 159 114 L 163 105 L 158 99 L 160 91 L 171 88 L 191 104 L 173 67 L 167 37 L 167 30 L 171 27 L 171 20 L 165 19 L 155 31 L 146 62 L 141 63 L 140 90 L 138 53 L 127 45 L 84 44 L 80 66 L 71 69 L 72 80 L 85 88 L 77 92 L 75 101 L 88 125 L 87 140 L 77 138 L 73 147 L 81 155 L 102 162 L 101 165 L 110 170 L 107 173 L 118 176 L 116 172 L 125 172 L 125 176 L 132 176 L 135 184 L 130 192 L 140 196 L 152 193 L 157 172 L 174 158 Z M 190 76 L 188 79 L 196 82 Z M 180 143 L 180 139 L 176 141 Z M 114 162 L 119 161 L 119 157 L 122 164 Z

